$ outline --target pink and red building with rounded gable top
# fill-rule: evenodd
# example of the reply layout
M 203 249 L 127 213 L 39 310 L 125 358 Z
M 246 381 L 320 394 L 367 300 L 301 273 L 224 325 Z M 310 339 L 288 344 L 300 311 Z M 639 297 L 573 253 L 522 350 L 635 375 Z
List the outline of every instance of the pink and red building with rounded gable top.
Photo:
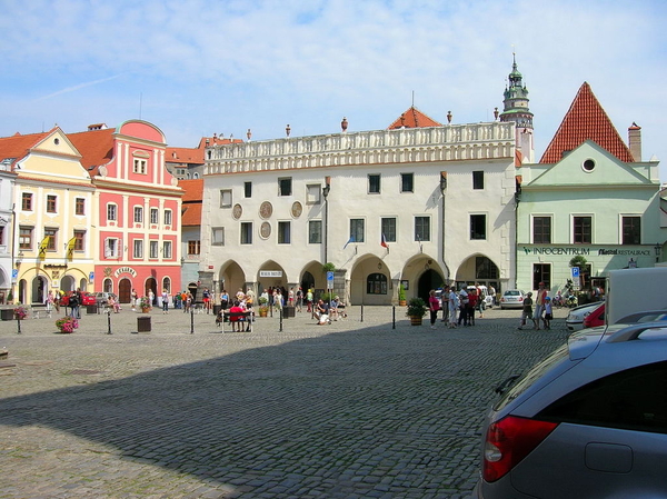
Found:
M 165 168 L 165 134 L 129 120 L 68 138 L 81 153 L 96 187 L 99 211 L 94 290 L 115 292 L 122 303 L 139 296 L 181 288 L 180 207 L 182 190 Z

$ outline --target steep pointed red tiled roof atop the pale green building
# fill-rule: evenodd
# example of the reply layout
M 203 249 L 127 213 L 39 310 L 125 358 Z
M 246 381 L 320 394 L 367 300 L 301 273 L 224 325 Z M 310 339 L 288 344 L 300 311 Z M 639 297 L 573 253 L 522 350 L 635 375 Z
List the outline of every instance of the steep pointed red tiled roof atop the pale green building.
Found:
M 584 82 L 539 162 L 557 163 L 564 152 L 578 148 L 586 140 L 596 142 L 621 161 L 635 161 L 590 86 Z

